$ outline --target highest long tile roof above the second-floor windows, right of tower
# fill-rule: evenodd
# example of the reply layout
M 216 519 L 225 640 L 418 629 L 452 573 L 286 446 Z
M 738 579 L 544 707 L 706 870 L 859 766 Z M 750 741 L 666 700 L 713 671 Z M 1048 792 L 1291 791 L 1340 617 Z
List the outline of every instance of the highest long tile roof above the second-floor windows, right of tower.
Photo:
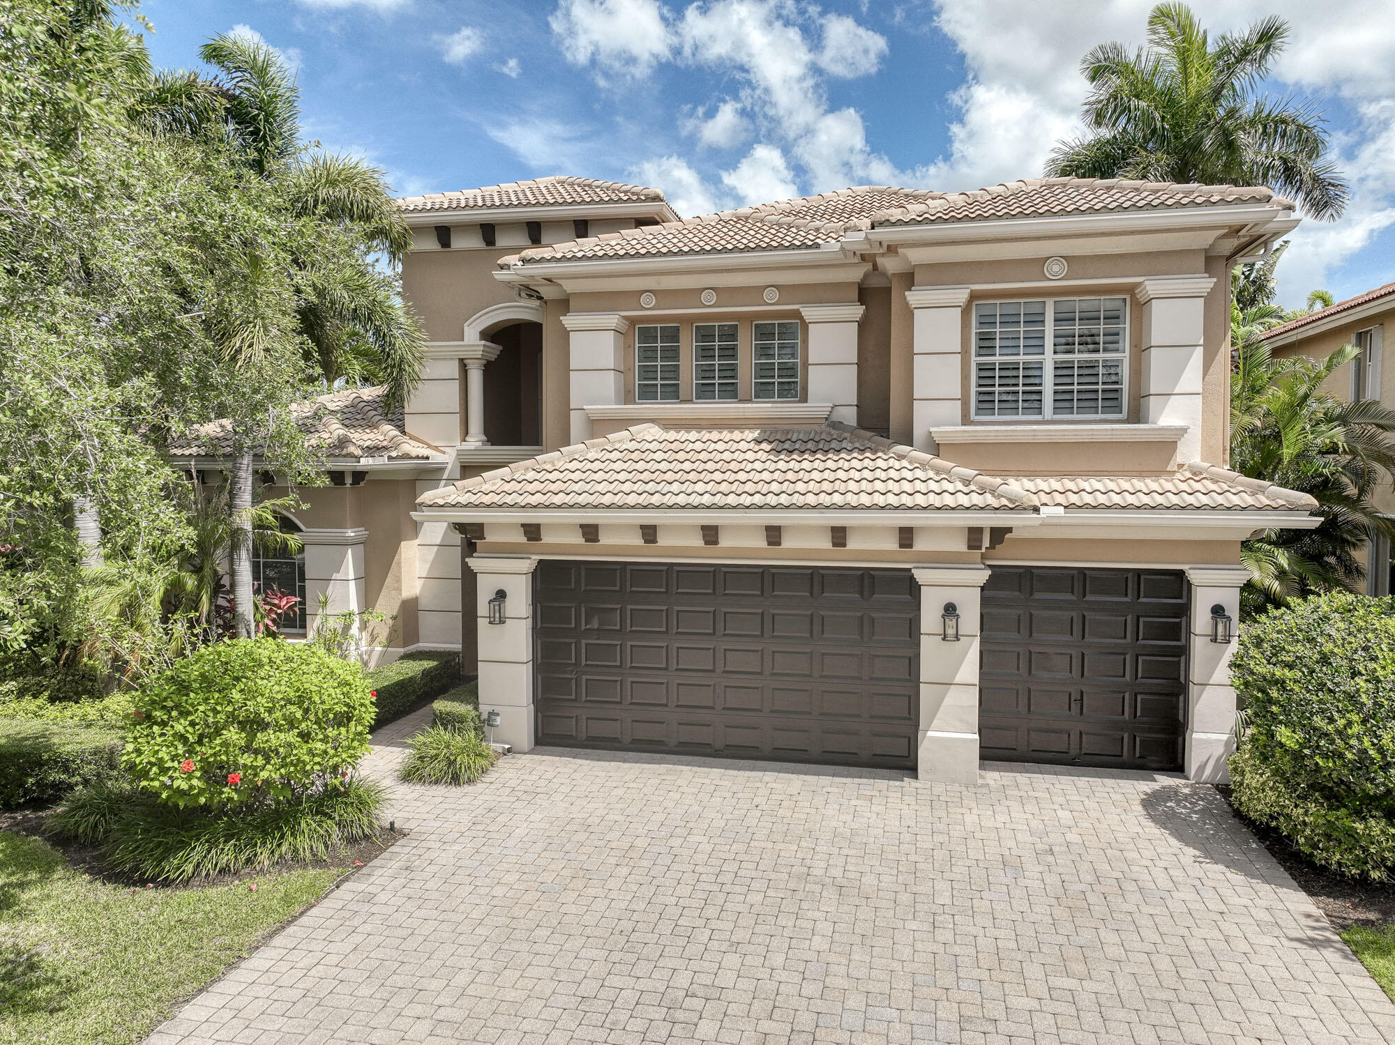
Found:
M 501 258 L 504 268 L 603 258 L 812 249 L 857 230 L 986 222 L 1013 217 L 1176 210 L 1225 203 L 1268 203 L 1267 188 L 1179 185 L 1120 178 L 1031 178 L 975 192 L 858 185 L 817 196 L 781 199 L 681 222 L 550 244 Z M 1288 201 L 1276 201 L 1293 206 Z

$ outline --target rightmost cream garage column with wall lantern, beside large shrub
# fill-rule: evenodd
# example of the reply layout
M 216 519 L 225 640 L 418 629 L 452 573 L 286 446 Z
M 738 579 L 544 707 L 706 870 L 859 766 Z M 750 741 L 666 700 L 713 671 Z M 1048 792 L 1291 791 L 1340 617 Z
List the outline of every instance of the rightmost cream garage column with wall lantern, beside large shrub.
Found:
M 1230 642 L 1211 641 L 1211 607 L 1223 606 L 1239 631 L 1240 588 L 1250 571 L 1237 566 L 1189 566 L 1191 624 L 1187 641 L 1187 744 L 1183 766 L 1200 783 L 1226 783 L 1235 751 L 1235 687 Z

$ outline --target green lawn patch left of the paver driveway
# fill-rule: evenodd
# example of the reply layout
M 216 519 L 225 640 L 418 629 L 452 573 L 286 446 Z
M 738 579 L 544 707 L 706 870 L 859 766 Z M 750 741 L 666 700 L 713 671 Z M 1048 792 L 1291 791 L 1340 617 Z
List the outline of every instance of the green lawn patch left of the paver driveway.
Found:
M 0 1042 L 130 1045 L 317 900 L 338 869 L 131 892 L 0 832 Z

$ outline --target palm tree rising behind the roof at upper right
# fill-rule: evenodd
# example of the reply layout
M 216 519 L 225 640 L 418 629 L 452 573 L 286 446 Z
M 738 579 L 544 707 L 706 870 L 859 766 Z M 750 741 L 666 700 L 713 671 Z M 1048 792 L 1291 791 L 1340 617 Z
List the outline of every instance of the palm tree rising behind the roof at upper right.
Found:
M 1046 174 L 1268 185 L 1314 217 L 1339 216 L 1348 188 L 1325 159 L 1322 117 L 1254 95 L 1288 32 L 1264 18 L 1212 46 L 1186 4 L 1158 4 L 1148 47 L 1102 43 L 1081 60 L 1091 135 L 1060 142 Z

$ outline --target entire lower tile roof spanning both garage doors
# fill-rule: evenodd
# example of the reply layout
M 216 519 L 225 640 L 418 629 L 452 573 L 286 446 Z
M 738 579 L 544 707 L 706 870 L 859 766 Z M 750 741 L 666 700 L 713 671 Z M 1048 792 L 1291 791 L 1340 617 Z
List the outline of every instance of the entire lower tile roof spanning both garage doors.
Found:
M 985 475 L 870 432 L 636 425 L 518 461 L 417 502 L 465 509 L 1031 510 L 1315 507 L 1207 464 L 1162 477 Z

